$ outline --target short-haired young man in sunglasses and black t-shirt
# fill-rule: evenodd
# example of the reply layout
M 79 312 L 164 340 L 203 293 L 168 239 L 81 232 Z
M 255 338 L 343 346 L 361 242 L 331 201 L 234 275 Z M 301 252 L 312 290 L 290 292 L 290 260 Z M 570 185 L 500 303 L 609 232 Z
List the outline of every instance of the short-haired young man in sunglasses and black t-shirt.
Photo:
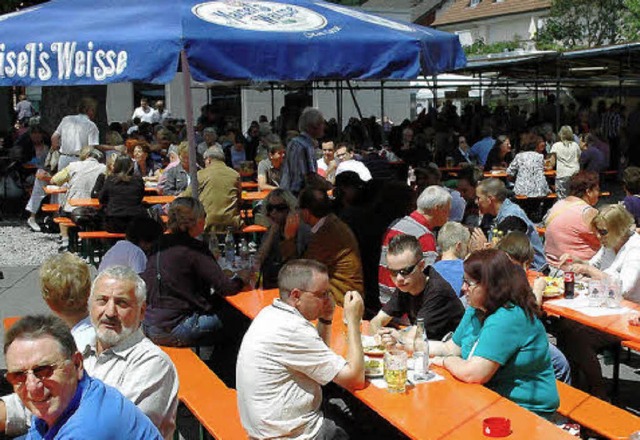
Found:
M 418 239 L 397 235 L 389 243 L 387 267 L 396 286 L 391 299 L 371 320 L 372 333 L 380 331 L 386 343 L 411 343 L 415 323 L 423 318 L 429 339 L 440 340 L 452 332 L 464 315 L 464 306 L 451 285 L 426 263 Z M 407 315 L 411 326 L 402 332 L 383 328 L 393 318 Z

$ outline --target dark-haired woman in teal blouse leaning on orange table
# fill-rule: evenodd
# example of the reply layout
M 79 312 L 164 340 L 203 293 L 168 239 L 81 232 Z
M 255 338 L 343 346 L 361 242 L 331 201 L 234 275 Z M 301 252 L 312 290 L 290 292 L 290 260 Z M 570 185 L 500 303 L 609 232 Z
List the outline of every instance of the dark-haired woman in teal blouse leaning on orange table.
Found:
M 560 404 L 545 329 L 525 272 L 484 249 L 464 262 L 469 308 L 453 338 L 430 341 L 432 363 L 548 417 Z

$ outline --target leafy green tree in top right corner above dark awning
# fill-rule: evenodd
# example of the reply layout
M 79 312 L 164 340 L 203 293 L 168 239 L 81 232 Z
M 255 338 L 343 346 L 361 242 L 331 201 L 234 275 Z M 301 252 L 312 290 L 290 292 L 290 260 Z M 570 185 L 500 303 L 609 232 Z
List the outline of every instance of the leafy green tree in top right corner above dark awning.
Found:
M 540 49 L 598 47 L 640 40 L 640 0 L 553 0 L 536 36 Z

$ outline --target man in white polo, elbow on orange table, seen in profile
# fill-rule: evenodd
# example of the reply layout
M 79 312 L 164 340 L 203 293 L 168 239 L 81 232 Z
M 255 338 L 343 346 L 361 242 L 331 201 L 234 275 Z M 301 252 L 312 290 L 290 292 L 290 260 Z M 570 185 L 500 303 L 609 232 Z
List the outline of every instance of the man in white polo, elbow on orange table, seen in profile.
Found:
M 329 382 L 364 387 L 358 292 L 347 292 L 346 360 L 328 347 L 334 304 L 322 263 L 292 260 L 278 275 L 280 298 L 264 308 L 244 336 L 236 364 L 238 407 L 249 437 L 344 438 L 320 410 Z M 317 326 L 311 321 L 318 320 Z

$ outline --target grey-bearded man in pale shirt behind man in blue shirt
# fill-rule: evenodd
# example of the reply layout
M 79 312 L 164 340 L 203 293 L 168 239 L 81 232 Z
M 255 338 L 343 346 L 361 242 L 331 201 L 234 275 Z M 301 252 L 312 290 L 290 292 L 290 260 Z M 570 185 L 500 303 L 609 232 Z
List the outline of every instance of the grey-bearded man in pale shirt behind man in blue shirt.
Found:
M 91 377 L 120 391 L 169 440 L 175 430 L 178 376 L 171 359 L 140 329 L 146 290 L 142 278 L 129 268 L 114 266 L 101 272 L 89 296 L 96 340 L 78 345 L 78 351 Z M 76 332 L 72 333 L 77 341 Z M 2 397 L 0 431 L 11 436 L 24 433 L 29 419 L 18 396 Z

